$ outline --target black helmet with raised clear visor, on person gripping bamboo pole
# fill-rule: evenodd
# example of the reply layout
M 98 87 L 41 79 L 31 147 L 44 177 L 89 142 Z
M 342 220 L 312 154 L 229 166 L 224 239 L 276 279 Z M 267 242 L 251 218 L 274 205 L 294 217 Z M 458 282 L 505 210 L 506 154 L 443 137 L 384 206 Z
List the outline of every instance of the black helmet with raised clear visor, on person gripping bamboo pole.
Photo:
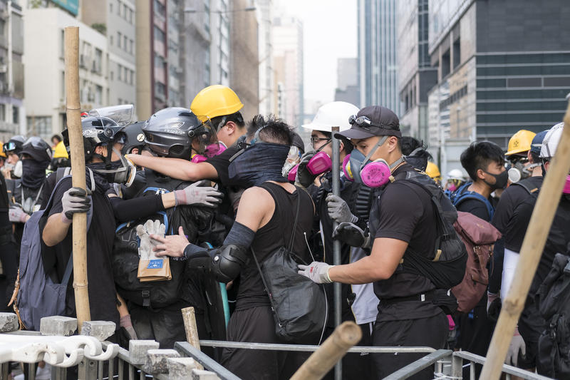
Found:
M 123 128 L 115 120 L 105 117 L 87 116 L 81 119 L 81 128 L 83 130 L 83 149 L 85 150 L 85 160 L 89 161 L 95 155 L 95 147 L 97 145 L 113 145 L 116 140 L 125 139 Z M 63 135 L 63 143 L 69 146 L 69 134 L 65 129 L 61 133 Z M 111 150 L 107 150 L 107 157 L 103 158 L 105 163 L 110 163 Z

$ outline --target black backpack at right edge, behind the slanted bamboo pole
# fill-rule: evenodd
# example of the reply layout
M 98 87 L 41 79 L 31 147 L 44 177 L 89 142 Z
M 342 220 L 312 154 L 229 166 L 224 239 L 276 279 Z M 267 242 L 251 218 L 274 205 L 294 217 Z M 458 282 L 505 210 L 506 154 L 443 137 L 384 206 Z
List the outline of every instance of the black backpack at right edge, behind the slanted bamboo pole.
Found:
M 570 257 L 557 253 L 535 296 L 546 329 L 539 337 L 537 369 L 553 379 L 570 378 Z

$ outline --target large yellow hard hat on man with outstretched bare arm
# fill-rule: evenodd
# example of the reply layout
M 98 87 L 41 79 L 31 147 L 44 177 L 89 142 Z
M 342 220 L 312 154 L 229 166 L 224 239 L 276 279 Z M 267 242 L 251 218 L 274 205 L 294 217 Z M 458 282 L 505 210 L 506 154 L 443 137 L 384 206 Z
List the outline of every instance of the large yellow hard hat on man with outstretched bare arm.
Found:
M 204 123 L 217 116 L 232 115 L 244 108 L 236 93 L 227 86 L 215 84 L 203 88 L 190 104 L 190 110 Z

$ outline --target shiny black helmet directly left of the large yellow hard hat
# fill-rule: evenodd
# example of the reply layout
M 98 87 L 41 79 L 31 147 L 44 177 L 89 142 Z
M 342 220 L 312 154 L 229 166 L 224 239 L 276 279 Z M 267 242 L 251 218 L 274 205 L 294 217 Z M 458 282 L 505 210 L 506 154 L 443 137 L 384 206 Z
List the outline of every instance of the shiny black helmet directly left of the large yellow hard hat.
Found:
M 187 108 L 170 107 L 158 111 L 142 126 L 148 147 L 158 155 L 190 160 L 192 140 L 197 138 L 204 150 L 216 133 L 208 125 L 202 124 L 196 115 Z

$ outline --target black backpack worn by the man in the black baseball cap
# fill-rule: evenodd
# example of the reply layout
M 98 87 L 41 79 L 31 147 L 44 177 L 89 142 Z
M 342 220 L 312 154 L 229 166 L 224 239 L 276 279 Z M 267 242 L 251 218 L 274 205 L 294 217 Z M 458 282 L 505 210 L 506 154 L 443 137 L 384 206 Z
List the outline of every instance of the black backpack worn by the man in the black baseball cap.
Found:
M 431 257 L 424 257 L 408 247 L 403 257 L 403 269 L 430 279 L 437 289 L 451 289 L 460 284 L 465 276 L 467 250 L 453 227 L 457 210 L 442 188 L 419 170 L 408 170 L 394 179 L 410 188 L 419 187 L 427 192 L 437 217 L 435 252 Z

